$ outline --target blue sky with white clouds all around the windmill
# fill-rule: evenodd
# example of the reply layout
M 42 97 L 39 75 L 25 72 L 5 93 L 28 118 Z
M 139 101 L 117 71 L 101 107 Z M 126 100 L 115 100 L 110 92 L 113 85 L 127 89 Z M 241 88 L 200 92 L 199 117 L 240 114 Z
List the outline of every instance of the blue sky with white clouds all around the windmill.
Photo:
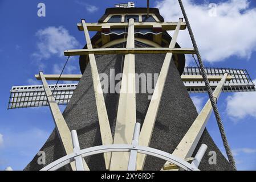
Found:
M 39 2 L 46 5 L 46 17 L 37 16 Z M 48 107 L 7 110 L 11 86 L 40 83 L 33 77 L 40 70 L 60 73 L 65 61 L 64 49 L 81 48 L 85 44 L 76 23 L 82 18 L 96 22 L 107 7 L 120 2 L 124 1 L 0 0 L 0 170 L 7 166 L 23 169 L 54 128 Z M 146 6 L 146 1 L 134 2 L 136 7 Z M 208 5 L 212 2 L 217 3 L 214 17 L 208 15 Z M 255 1 L 184 0 L 184 5 L 205 65 L 244 68 L 255 80 Z M 151 1 L 151 7 L 159 7 L 166 20 L 176 21 L 181 16 L 176 1 Z M 186 33 L 178 41 L 183 47 L 191 47 Z M 187 56 L 187 60 L 188 65 L 193 65 L 191 57 Z M 78 57 L 72 58 L 66 73 L 79 73 L 78 66 Z M 206 94 L 193 94 L 192 98 L 198 110 L 207 101 Z M 227 138 L 241 170 L 256 169 L 255 103 L 255 93 L 223 93 L 218 101 Z M 207 127 L 224 151 L 214 116 Z

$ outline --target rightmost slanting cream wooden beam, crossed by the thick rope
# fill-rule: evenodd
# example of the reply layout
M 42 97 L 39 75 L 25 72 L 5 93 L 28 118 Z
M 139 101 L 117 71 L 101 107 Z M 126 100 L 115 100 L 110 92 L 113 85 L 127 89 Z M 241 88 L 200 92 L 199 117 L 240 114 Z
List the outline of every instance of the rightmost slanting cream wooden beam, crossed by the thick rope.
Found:
M 216 101 L 220 97 L 226 78 L 227 78 L 227 73 L 224 74 L 217 88 L 213 92 L 213 96 L 214 98 L 216 98 Z M 210 115 L 212 114 L 212 111 L 213 111 L 212 104 L 210 100 L 208 100 L 204 108 L 201 110 L 200 114 L 196 118 L 196 120 L 193 122 L 193 124 L 190 126 L 185 136 L 182 138 L 181 142 L 173 151 L 172 153 L 173 155 L 176 155 L 182 159 L 190 158 L 192 156 L 202 136 L 202 133 L 205 130 L 206 124 L 210 118 Z M 168 166 L 169 162 L 166 162 L 165 165 Z M 162 170 L 163 169 L 164 167 L 162 168 Z

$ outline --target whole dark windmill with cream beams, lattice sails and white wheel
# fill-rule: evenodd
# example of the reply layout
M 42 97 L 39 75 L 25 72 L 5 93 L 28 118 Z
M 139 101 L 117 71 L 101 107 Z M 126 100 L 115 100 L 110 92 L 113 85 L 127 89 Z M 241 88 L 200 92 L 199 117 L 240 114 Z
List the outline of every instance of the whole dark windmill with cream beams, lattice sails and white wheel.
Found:
M 185 54 L 196 54 L 196 49 L 176 43 L 178 32 L 188 24 L 183 18 L 164 22 L 158 9 L 131 3 L 115 6 L 97 23 L 82 19 L 77 26 L 84 32 L 86 46 L 64 51 L 65 56 L 80 56 L 82 75 L 39 72 L 35 77 L 42 85 L 11 89 L 9 109 L 49 106 L 55 122 L 40 149 L 46 164 L 38 164 L 36 155 L 25 170 L 231 170 L 205 129 L 213 111 L 211 102 L 197 114 L 189 97 L 207 89 L 201 69 L 185 67 Z M 89 31 L 97 33 L 90 38 Z M 166 31 L 173 31 L 173 36 Z M 244 69 L 206 68 L 205 72 L 216 100 L 221 92 L 255 91 Z M 136 76 L 141 73 L 159 77 L 150 85 L 155 78 L 143 81 Z M 107 77 L 102 79 L 102 74 Z M 79 83 L 48 85 L 47 80 Z M 109 81 L 102 88 L 105 80 Z M 137 93 L 144 84 L 155 89 Z M 67 104 L 63 113 L 60 104 Z M 217 164 L 208 163 L 204 154 L 209 151 L 216 152 Z

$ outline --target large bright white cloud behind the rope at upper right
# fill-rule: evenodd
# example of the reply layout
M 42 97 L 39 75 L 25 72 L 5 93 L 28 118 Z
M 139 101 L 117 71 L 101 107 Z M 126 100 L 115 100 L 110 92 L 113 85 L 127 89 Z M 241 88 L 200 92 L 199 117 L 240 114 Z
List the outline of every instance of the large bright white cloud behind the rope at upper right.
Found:
M 209 3 L 183 0 L 202 57 L 209 62 L 223 61 L 230 56 L 249 59 L 256 51 L 256 9 L 247 0 L 229 0 L 217 4 L 217 16 L 210 16 Z M 178 1 L 157 2 L 165 21 L 183 17 Z M 172 33 L 170 34 L 172 35 Z M 191 47 L 188 30 L 181 31 L 178 42 Z

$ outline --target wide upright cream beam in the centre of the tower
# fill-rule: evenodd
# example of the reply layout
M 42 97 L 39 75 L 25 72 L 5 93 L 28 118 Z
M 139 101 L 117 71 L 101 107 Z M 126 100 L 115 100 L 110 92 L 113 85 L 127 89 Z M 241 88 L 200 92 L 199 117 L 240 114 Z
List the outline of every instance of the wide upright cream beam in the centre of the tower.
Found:
M 129 19 L 127 48 L 135 47 L 134 20 Z M 131 144 L 136 123 L 135 55 L 124 57 L 114 144 Z M 127 170 L 128 152 L 113 152 L 110 170 Z

